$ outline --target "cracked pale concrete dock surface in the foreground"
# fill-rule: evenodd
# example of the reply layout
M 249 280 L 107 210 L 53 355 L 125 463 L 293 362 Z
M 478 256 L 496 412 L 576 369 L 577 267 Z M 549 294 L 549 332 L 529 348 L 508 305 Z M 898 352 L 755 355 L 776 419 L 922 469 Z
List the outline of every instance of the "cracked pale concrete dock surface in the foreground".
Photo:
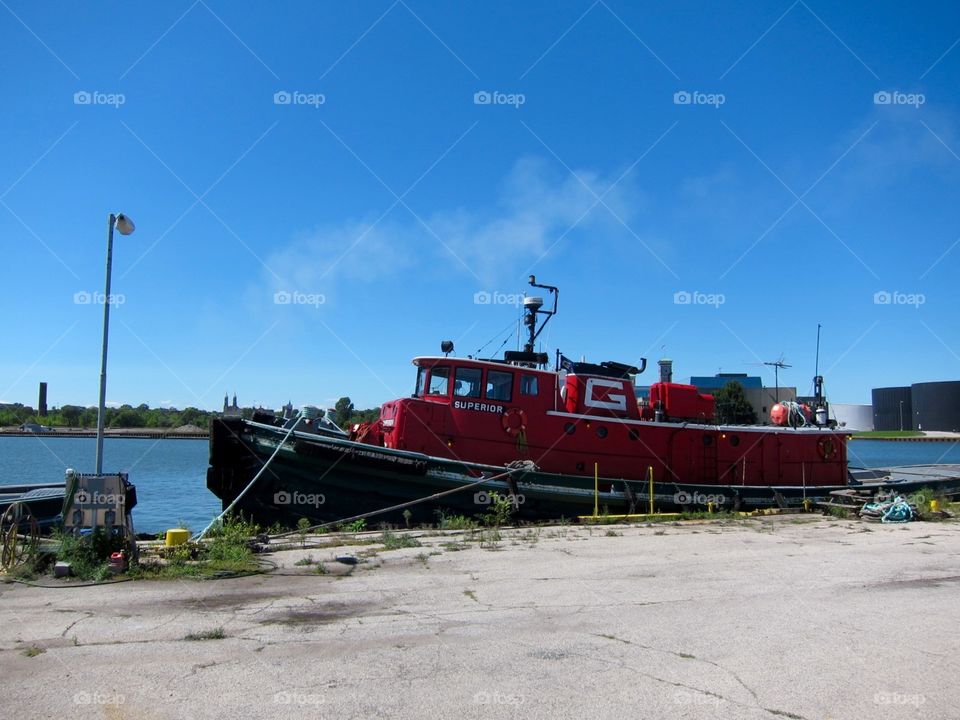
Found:
M 414 534 L 275 553 L 238 579 L 0 584 L 4 715 L 960 714 L 957 523 Z M 294 565 L 308 554 L 325 574 Z

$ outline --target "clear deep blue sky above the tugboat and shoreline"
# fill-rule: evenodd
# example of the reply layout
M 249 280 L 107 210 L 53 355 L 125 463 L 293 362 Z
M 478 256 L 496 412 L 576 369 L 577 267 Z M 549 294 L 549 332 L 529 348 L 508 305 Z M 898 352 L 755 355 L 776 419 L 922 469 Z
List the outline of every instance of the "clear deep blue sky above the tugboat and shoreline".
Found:
M 0 401 L 96 403 L 111 211 L 116 403 L 373 406 L 496 350 L 530 273 L 551 353 L 805 392 L 822 323 L 834 401 L 956 379 L 958 39 L 941 3 L 2 0 Z

